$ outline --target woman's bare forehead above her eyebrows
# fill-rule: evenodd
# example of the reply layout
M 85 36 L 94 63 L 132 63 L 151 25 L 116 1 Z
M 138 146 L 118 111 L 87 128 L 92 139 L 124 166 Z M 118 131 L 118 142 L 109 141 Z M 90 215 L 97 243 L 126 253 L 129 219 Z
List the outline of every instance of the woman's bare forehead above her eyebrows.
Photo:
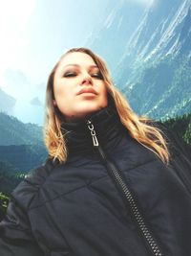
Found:
M 77 64 L 80 66 L 96 65 L 94 59 L 85 53 L 70 53 L 61 59 L 59 67 L 65 68 L 69 64 Z

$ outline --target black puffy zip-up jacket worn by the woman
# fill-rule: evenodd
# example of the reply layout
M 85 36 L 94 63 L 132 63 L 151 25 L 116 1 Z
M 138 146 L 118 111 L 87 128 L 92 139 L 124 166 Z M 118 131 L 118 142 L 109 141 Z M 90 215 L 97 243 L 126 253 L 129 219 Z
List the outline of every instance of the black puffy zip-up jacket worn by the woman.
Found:
M 191 255 L 191 164 L 176 144 L 164 165 L 111 107 L 62 128 L 68 160 L 12 192 L 1 256 Z

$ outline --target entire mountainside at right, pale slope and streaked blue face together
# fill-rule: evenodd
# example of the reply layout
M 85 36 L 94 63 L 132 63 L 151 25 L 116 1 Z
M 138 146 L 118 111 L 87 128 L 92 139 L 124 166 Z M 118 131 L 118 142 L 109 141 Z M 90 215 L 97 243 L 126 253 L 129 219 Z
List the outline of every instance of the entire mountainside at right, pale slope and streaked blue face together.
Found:
M 111 1 L 107 11 L 87 46 L 107 59 L 132 108 L 162 120 L 189 113 L 191 0 Z

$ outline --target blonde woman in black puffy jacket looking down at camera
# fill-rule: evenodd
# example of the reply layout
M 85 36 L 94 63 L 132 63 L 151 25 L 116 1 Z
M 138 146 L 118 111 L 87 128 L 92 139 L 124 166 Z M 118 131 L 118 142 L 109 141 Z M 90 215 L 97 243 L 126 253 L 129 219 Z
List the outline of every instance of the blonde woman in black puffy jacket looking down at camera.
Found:
M 68 51 L 46 103 L 49 158 L 11 194 L 0 255 L 190 255 L 186 152 L 133 112 L 104 61 Z

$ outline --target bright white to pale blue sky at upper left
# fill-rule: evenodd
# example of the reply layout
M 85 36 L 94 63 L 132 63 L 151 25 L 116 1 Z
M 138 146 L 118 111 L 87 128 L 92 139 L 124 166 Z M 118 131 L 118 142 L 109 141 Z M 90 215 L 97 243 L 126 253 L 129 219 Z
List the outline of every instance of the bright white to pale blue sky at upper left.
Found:
M 108 1 L 117 3 L 0 0 L 0 88 L 17 100 L 13 115 L 24 123 L 42 124 L 46 82 L 55 62 L 66 50 L 84 46 L 107 17 Z M 148 5 L 151 0 L 134 2 Z M 36 97 L 39 108 L 32 112 L 30 102 Z

